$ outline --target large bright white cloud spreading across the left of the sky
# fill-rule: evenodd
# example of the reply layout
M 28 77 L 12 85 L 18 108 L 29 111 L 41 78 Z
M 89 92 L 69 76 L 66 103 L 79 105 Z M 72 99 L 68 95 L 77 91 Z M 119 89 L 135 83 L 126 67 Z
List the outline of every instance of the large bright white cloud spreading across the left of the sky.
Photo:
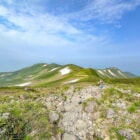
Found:
M 14 6 L 15 3 L 11 4 Z M 25 3 L 23 7 L 9 8 L 3 5 L 1 9 L 3 9 L 1 10 L 3 11 L 3 17 L 22 29 L 16 30 L 6 28 L 4 25 L 0 26 L 1 37 L 9 39 L 13 46 L 22 44 L 22 46 L 31 45 L 40 47 L 59 46 L 63 48 L 65 46 L 75 47 L 76 45 L 86 45 L 88 47 L 91 44 L 104 42 L 104 36 L 87 34 L 71 25 L 66 18 L 35 11 Z

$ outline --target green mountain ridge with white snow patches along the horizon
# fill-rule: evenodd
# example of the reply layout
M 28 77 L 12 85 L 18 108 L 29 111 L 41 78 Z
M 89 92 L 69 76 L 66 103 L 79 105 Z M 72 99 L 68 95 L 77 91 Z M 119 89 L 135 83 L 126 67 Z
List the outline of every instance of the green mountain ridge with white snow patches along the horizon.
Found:
M 0 86 L 54 86 L 80 82 L 97 82 L 99 79 L 127 79 L 135 75 L 117 68 L 92 69 L 73 64 L 35 64 L 15 72 L 0 73 Z

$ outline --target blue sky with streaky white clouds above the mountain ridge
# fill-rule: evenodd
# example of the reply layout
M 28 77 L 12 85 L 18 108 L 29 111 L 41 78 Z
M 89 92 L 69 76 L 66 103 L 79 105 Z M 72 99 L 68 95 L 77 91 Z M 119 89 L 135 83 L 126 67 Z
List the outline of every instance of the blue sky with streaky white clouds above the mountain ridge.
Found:
M 0 0 L 0 72 L 35 63 L 140 75 L 140 0 Z

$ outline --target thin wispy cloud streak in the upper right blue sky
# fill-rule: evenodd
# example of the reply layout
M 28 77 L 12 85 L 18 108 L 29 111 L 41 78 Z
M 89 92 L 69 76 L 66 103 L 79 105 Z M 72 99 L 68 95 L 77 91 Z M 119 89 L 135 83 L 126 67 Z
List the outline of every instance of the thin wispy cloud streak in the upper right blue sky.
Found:
M 70 18 L 81 21 L 98 20 L 101 23 L 114 23 L 122 16 L 140 6 L 140 0 L 92 0 L 81 11 L 69 14 Z

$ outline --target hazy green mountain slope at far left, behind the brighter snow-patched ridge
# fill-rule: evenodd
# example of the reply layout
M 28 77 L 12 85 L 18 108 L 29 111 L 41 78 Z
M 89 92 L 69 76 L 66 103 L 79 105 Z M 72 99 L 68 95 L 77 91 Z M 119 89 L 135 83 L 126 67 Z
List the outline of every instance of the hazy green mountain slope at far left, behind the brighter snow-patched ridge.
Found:
M 10 86 L 25 83 L 27 81 L 34 81 L 34 79 L 42 73 L 46 73 L 47 71 L 59 66 L 60 65 L 57 64 L 41 63 L 15 72 L 0 73 L 0 86 Z

